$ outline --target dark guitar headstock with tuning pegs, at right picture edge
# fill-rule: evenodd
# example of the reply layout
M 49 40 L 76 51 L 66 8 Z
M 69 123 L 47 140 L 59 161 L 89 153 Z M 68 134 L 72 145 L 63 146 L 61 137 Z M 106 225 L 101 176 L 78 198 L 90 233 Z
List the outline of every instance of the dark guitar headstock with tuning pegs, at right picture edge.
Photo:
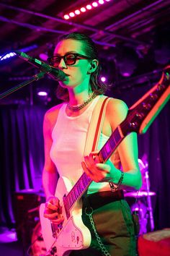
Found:
M 130 107 L 120 128 L 123 135 L 130 132 L 145 133 L 170 98 L 170 66 L 164 69 L 161 80 L 139 101 Z

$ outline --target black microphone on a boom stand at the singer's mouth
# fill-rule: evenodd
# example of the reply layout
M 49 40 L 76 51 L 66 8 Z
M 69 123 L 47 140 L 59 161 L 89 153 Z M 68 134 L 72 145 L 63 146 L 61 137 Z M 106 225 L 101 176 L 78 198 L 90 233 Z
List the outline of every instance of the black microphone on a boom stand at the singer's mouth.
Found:
M 22 51 L 14 51 L 14 52 L 19 56 L 19 58 L 24 59 L 25 61 L 28 61 L 30 64 L 37 67 L 42 72 L 49 74 L 50 77 L 53 77 L 54 80 L 63 81 L 64 78 L 66 77 L 66 74 L 61 69 L 56 69 L 55 67 L 51 67 L 45 62 L 40 61 L 39 59 L 35 59 L 25 54 Z

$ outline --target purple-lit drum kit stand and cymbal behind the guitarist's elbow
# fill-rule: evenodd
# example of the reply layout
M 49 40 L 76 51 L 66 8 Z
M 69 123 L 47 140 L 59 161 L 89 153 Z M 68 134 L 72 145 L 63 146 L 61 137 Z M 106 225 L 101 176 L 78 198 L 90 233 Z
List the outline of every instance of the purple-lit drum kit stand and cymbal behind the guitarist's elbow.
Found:
M 138 213 L 140 223 L 140 234 L 146 234 L 148 229 L 148 219 L 150 221 L 150 230 L 154 229 L 153 208 L 151 204 L 151 196 L 156 195 L 155 192 L 150 191 L 150 182 L 148 176 L 148 162 L 138 159 L 140 171 L 142 174 L 143 185 L 138 191 L 125 191 L 125 198 L 135 198 L 135 203 L 130 205 L 133 213 Z

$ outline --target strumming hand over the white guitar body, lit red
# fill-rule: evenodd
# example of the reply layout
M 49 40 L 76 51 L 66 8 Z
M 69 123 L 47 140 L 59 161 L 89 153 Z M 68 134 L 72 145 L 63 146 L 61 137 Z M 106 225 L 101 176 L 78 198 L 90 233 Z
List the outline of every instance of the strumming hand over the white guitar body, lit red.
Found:
M 45 202 L 44 217 L 56 224 L 60 224 L 64 221 L 62 207 L 57 197 L 50 197 L 49 200 Z

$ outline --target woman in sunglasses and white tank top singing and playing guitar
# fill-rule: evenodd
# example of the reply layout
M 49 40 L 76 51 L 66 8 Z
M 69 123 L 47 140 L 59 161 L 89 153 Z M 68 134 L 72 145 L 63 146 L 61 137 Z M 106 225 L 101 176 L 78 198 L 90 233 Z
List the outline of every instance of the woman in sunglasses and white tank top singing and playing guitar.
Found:
M 137 136 L 132 132 L 125 137 L 105 163 L 100 163 L 97 153 L 84 156 L 91 115 L 106 89 L 99 80 L 96 46 L 84 34 L 63 35 L 50 64 L 61 69 L 66 78 L 59 82 L 58 89 L 64 103 L 51 108 L 44 119 L 42 184 L 47 199 L 44 216 L 53 223 L 63 222 L 60 202 L 55 195 L 58 175 L 75 184 L 85 171 L 93 181 L 84 196 L 82 213 L 84 224 L 91 232 L 91 244 L 88 249 L 73 250 L 71 255 L 135 255 L 133 218 L 122 189 L 139 189 L 141 186 Z M 98 150 L 127 113 L 128 107 L 123 101 L 109 99 Z M 114 184 L 114 189 L 110 184 Z

